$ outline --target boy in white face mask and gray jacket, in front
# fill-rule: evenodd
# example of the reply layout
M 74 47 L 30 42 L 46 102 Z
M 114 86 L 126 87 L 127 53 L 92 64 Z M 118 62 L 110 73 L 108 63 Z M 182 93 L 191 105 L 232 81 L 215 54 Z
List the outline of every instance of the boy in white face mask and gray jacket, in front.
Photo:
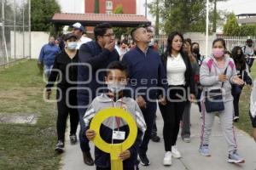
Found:
M 123 62 L 114 61 L 108 65 L 107 77 L 105 77 L 108 92 L 97 96 L 96 99 L 92 101 L 88 110 L 85 112 L 84 123 L 86 127 L 85 135 L 87 139 L 92 140 L 95 138 L 96 133 L 95 131 L 90 130 L 89 124 L 98 111 L 110 107 L 120 107 L 131 113 L 131 116 L 133 116 L 134 120 L 137 122 L 137 139 L 131 148 L 121 152 L 119 157 L 123 161 L 124 170 L 134 170 L 137 169 L 137 148 L 141 143 L 142 135 L 146 130 L 146 123 L 137 102 L 125 94 L 124 89 L 127 84 L 127 78 L 127 66 Z M 127 138 L 129 127 L 126 122 L 117 117 L 109 117 L 102 123 L 100 135 L 102 139 L 109 144 L 121 143 L 125 139 L 112 139 L 113 131 L 116 130 L 125 132 L 125 138 Z M 95 164 L 97 170 L 110 170 L 110 155 L 95 148 Z

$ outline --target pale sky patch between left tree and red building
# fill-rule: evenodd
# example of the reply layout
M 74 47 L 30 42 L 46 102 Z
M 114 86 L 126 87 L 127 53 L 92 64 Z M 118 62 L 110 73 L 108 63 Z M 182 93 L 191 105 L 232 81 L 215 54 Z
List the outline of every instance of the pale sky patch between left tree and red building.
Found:
M 61 13 L 84 14 L 84 0 L 57 0 Z

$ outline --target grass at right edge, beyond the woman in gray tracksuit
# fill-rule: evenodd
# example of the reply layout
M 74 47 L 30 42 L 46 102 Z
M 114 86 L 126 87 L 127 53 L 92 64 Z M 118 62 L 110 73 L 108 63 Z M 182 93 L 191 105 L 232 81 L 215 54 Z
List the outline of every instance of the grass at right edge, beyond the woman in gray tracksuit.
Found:
M 256 78 L 256 64 L 254 62 L 254 65 L 252 67 L 251 71 L 251 77 L 254 80 Z M 256 86 L 256 84 L 255 84 Z M 247 132 L 251 136 L 253 136 L 253 127 L 250 120 L 250 117 L 248 115 L 249 111 L 249 104 L 250 104 L 250 94 L 251 94 L 251 88 L 250 87 L 244 87 L 241 93 L 240 97 L 240 116 L 239 116 L 239 122 L 235 123 L 236 127 L 240 128 L 241 130 Z

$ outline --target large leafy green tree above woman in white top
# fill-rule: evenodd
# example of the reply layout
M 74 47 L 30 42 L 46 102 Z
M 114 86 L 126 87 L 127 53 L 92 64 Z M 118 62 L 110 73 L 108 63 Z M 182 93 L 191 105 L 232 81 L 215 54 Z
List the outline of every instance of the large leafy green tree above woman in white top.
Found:
M 149 3 L 149 12 L 159 14 L 162 28 L 168 34 L 171 31 L 205 31 L 206 0 L 154 0 Z M 158 2 L 156 5 L 156 2 Z

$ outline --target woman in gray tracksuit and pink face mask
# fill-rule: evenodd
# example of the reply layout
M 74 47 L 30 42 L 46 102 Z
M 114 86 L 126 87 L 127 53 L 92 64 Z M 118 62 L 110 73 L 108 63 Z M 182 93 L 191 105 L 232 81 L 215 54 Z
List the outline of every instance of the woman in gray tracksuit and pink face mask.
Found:
M 212 42 L 212 55 L 207 59 L 204 59 L 200 68 L 200 82 L 203 89 L 201 94 L 203 123 L 199 151 L 202 156 L 211 156 L 209 150 L 209 138 L 212 131 L 214 117 L 216 113 L 218 113 L 220 125 L 229 149 L 227 159 L 230 163 L 243 163 L 244 159 L 242 159 L 237 153 L 236 136 L 233 127 L 234 106 L 233 96 L 231 94 L 231 83 L 242 85 L 244 82 L 241 78 L 236 76 L 234 60 L 224 55 L 225 50 L 226 45 L 224 39 L 215 39 Z M 207 111 L 206 109 L 206 106 L 209 108 L 209 105 L 206 105 L 206 101 L 210 100 L 208 96 L 213 93 L 213 90 L 218 90 L 222 94 L 224 104 L 223 111 L 211 111 L 209 109 Z M 212 104 L 213 102 L 218 101 L 212 101 Z

